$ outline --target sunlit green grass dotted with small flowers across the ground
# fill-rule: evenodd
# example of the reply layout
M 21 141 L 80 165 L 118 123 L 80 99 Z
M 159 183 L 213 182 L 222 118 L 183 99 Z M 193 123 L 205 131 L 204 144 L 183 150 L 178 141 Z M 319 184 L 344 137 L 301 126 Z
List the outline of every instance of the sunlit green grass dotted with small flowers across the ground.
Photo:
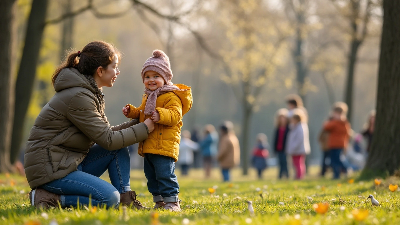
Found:
M 192 170 L 189 177 L 178 175 L 182 212 L 156 211 L 158 224 L 180 225 L 184 224 L 185 218 L 190 225 L 245 225 L 249 222 L 253 225 L 400 224 L 400 193 L 392 193 L 388 189 L 388 185 L 397 184 L 398 179 L 386 179 L 380 187 L 375 187 L 373 180 L 356 180 L 350 184 L 348 179 L 331 181 L 320 179 L 316 174 L 318 171 L 313 168 L 304 181 L 277 181 L 276 169 L 269 169 L 264 179 L 258 181 L 255 171 L 243 177 L 239 170 L 235 170 L 233 181 L 222 183 L 218 170 L 213 171 L 210 180 L 203 178 L 202 171 Z M 12 181 L 16 182 L 13 187 L 10 185 Z M 338 183 L 341 185 L 338 186 Z M 208 188 L 213 186 L 218 188 L 212 196 Z M 143 171 L 132 171 L 131 187 L 140 193 L 138 199 L 143 205 L 153 206 Z M 260 197 L 258 189 L 261 189 L 263 197 Z M 40 211 L 30 206 L 29 191 L 25 177 L 10 175 L 7 178 L 6 175 L 0 175 L 0 224 L 35 224 L 30 222 L 38 221 L 38 224 L 48 225 L 53 219 L 60 225 L 157 224 L 152 221 L 152 212 L 149 211 L 128 209 L 125 216 L 122 210 L 97 209 L 96 212 L 90 212 L 83 208 Z M 370 194 L 380 201 L 380 207 L 372 207 L 370 201 L 366 201 Z M 247 212 L 247 200 L 253 201 L 254 217 Z M 317 214 L 312 207 L 314 203 L 322 201 L 330 204 L 325 215 Z M 363 222 L 355 221 L 352 218 L 353 209 L 367 209 L 368 218 Z M 43 213 L 48 215 L 48 219 Z

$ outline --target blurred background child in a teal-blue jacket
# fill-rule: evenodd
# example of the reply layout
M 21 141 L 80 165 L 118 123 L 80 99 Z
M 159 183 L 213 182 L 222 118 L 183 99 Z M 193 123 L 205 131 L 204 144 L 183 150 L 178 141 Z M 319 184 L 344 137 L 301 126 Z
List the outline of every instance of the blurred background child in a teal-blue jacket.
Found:
M 203 167 L 206 178 L 210 178 L 212 162 L 218 152 L 218 133 L 211 124 L 204 127 L 204 139 L 200 141 L 200 149 L 203 156 Z

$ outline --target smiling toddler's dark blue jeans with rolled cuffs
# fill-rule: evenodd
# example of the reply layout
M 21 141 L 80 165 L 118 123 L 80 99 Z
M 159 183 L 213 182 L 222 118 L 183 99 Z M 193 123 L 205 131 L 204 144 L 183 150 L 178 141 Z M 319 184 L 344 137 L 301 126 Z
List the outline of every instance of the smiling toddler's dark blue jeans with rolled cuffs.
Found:
M 144 154 L 144 175 L 153 201 L 178 202 L 179 184 L 175 175 L 175 160 L 156 154 Z

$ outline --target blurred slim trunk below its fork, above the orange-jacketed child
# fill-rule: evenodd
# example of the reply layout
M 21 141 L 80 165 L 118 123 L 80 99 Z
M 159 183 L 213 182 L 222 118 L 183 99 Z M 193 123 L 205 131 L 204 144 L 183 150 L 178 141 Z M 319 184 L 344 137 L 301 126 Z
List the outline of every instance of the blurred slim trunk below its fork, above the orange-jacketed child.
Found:
M 351 122 L 352 120 L 352 106 L 353 106 L 353 85 L 354 85 L 354 70 L 357 63 L 357 53 L 358 49 L 361 45 L 361 42 L 353 38 L 352 42 L 350 43 L 350 54 L 348 56 L 348 67 L 347 67 L 347 81 L 346 81 L 346 93 L 345 102 L 348 105 L 348 121 Z

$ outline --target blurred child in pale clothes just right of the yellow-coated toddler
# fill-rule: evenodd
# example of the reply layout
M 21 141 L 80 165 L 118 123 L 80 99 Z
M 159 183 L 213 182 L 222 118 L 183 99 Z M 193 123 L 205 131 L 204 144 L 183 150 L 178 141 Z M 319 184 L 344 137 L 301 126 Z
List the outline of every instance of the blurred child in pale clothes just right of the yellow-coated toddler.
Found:
M 179 161 L 182 169 L 182 176 L 188 175 L 189 167 L 193 164 L 193 152 L 197 151 L 199 145 L 190 140 L 190 131 L 182 131 L 179 145 Z

